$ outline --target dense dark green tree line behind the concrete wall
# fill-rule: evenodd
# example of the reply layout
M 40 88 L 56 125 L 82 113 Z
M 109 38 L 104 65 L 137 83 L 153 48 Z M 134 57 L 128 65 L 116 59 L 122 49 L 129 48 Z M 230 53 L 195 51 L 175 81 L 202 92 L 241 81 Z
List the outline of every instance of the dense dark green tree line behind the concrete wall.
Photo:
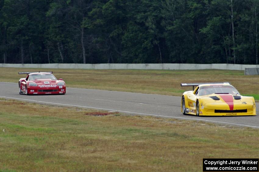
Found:
M 0 63 L 258 64 L 259 0 L 0 0 Z

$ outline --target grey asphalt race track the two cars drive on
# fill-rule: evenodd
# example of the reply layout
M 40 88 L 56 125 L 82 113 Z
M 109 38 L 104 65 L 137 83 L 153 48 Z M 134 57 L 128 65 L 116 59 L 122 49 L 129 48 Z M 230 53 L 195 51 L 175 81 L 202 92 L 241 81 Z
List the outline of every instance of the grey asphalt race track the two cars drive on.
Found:
M 176 119 L 192 119 L 221 123 L 223 126 L 247 126 L 259 128 L 259 104 L 257 116 L 197 117 L 181 113 L 181 97 L 155 94 L 128 93 L 93 89 L 67 88 L 65 95 L 20 95 L 18 83 L 0 82 L 0 97 L 57 106 L 95 108 L 130 114 L 152 115 Z

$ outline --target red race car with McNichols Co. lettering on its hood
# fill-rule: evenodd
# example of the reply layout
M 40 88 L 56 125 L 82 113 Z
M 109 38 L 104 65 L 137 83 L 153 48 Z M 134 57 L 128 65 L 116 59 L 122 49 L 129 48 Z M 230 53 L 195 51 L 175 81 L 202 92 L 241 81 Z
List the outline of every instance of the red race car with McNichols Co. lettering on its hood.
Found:
M 66 94 L 66 83 L 63 79 L 57 80 L 53 72 L 19 72 L 27 74 L 19 80 L 20 94 Z

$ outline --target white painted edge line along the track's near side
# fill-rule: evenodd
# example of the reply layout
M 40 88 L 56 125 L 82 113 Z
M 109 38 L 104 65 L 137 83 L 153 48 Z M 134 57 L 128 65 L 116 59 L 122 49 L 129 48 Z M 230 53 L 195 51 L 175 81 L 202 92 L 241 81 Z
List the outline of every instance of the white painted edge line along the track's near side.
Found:
M 73 104 L 61 104 L 61 103 L 44 102 L 44 101 L 38 101 L 38 100 L 20 99 L 20 98 L 14 98 L 14 97 L 5 97 L 5 96 L 0 96 L 0 97 L 9 98 L 9 99 L 18 99 L 18 100 L 28 100 L 28 101 L 34 101 L 34 102 L 40 102 L 40 103 L 46 103 L 46 104 L 58 104 L 58 105 L 63 105 L 63 106 L 86 107 L 86 108 L 92 108 L 92 109 L 117 111 L 117 112 L 131 113 L 131 114 L 141 114 L 141 115 L 150 115 L 150 116 L 156 116 L 156 117 L 167 117 L 167 118 L 177 118 L 177 119 L 190 119 L 190 120 L 197 120 L 197 121 L 217 122 L 217 123 L 223 123 L 223 124 L 232 124 L 232 125 L 240 125 L 240 126 L 244 126 L 244 127 L 259 128 L 257 126 L 236 124 L 236 123 L 230 123 L 230 122 L 212 121 L 212 120 L 206 120 L 206 119 L 171 117 L 171 116 L 165 116 L 165 115 L 144 114 L 144 113 L 137 113 L 137 112 L 119 111 L 119 110 L 114 110 L 114 109 L 105 109 L 105 108 L 99 108 L 99 107 L 79 106 L 79 105 L 73 105 Z

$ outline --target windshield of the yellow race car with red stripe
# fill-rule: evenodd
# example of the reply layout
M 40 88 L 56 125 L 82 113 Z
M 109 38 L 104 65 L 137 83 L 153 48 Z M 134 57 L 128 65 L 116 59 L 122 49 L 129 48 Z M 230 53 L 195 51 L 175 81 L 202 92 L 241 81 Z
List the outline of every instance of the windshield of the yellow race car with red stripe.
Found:
M 235 87 L 229 86 L 201 86 L 199 90 L 199 96 L 205 96 L 213 93 L 225 93 L 232 95 L 240 95 L 239 92 L 235 89 Z

